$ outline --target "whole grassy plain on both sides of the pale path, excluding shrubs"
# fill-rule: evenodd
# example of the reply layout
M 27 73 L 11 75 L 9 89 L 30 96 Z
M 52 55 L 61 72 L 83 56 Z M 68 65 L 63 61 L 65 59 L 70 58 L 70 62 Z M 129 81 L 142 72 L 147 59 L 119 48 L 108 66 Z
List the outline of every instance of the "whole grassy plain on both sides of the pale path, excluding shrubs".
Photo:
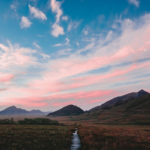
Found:
M 21 119 L 21 116 L 9 117 Z M 22 119 L 26 117 L 22 116 Z M 36 117 L 39 116 L 28 118 Z M 1 116 L 1 119 L 4 118 L 8 117 Z M 150 149 L 150 125 L 101 124 L 99 119 L 82 120 L 80 116 L 48 118 L 58 120 L 66 126 L 0 125 L 0 149 L 69 150 L 75 127 L 78 127 L 81 140 L 80 150 Z

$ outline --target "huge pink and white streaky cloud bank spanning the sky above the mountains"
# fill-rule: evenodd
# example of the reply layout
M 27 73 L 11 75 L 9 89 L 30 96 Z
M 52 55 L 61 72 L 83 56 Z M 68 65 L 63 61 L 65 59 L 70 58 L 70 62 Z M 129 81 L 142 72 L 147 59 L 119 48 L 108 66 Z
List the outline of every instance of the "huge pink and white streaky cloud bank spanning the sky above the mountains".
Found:
M 7 90 L 1 92 L 1 99 L 25 106 L 62 106 L 74 102 L 90 104 L 91 107 L 92 103 L 112 98 L 115 95 L 113 91 L 121 90 L 120 82 L 126 92 L 138 87 L 149 88 L 149 76 L 142 80 L 135 77 L 150 74 L 148 59 L 140 63 L 136 61 L 150 56 L 150 14 L 136 20 L 120 19 L 118 24 L 119 34 L 114 30 L 107 31 L 107 34 L 105 31 L 102 36 L 80 41 L 83 42 L 81 46 L 84 44 L 81 49 L 71 51 L 67 48 L 56 52 L 60 57 L 53 59 L 49 59 L 48 54 L 37 56 L 36 50 L 12 45 L 9 41 L 8 46 L 1 43 L 1 84 L 14 79 L 19 81 L 10 85 L 9 89 L 4 85 L 2 88 Z M 69 38 L 64 40 L 63 46 L 69 45 Z M 132 63 L 128 63 L 130 61 Z M 128 65 L 119 67 L 119 64 Z M 104 68 L 107 66 L 110 69 L 106 71 Z M 31 72 L 32 68 L 35 70 Z M 38 73 L 35 73 L 36 68 Z M 99 69 L 103 71 L 98 72 Z M 97 73 L 93 72 L 95 70 Z M 131 81 L 138 84 L 127 86 L 126 83 Z M 118 86 L 115 87 L 115 84 Z M 110 89 L 112 87 L 113 90 Z M 120 93 L 117 92 L 117 95 Z

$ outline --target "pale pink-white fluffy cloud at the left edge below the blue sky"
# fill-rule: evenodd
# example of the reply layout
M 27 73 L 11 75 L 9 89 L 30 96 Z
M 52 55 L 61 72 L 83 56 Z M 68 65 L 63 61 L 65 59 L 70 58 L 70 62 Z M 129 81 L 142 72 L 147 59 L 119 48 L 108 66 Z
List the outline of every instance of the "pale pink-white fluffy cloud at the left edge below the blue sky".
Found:
M 28 66 L 29 64 L 36 64 L 36 57 L 32 54 L 36 53 L 35 50 L 30 48 L 21 48 L 19 45 L 12 45 L 10 41 L 7 41 L 9 47 L 0 44 L 0 48 L 3 50 L 0 56 L 0 64 L 2 68 L 16 67 L 16 66 Z

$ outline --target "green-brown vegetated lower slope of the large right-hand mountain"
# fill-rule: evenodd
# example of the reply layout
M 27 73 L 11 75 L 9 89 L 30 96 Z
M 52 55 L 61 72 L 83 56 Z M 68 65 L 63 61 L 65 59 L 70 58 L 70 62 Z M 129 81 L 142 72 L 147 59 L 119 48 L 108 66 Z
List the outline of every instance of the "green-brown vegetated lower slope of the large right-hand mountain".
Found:
M 118 101 L 111 107 L 87 112 L 74 120 L 95 119 L 95 123 L 150 125 L 150 94 Z

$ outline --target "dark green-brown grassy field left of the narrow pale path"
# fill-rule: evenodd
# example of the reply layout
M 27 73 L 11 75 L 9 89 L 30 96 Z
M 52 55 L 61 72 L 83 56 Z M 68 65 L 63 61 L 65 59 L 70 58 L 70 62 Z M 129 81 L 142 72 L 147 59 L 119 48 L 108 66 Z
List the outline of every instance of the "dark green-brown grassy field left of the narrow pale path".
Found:
M 69 150 L 71 128 L 54 125 L 0 125 L 0 149 Z

